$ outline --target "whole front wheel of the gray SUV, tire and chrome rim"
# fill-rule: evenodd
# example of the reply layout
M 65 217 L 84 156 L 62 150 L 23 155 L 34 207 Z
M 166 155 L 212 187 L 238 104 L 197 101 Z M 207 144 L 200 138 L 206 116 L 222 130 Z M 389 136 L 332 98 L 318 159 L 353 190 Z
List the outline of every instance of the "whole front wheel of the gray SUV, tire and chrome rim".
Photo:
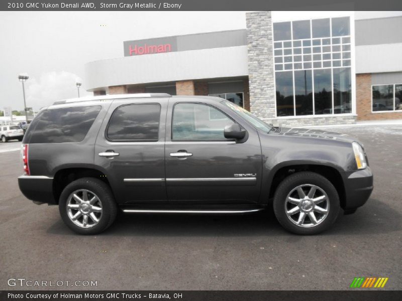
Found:
M 334 185 L 313 172 L 285 178 L 275 192 L 273 209 L 279 223 L 295 234 L 318 234 L 327 230 L 339 214 Z

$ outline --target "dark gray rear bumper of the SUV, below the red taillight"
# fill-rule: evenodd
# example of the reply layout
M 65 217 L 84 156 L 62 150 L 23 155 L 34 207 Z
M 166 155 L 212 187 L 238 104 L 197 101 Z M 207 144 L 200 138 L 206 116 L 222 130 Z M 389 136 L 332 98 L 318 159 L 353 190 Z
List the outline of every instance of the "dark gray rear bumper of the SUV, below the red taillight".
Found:
M 56 204 L 53 197 L 53 178 L 46 176 L 20 176 L 18 186 L 23 195 L 35 202 Z

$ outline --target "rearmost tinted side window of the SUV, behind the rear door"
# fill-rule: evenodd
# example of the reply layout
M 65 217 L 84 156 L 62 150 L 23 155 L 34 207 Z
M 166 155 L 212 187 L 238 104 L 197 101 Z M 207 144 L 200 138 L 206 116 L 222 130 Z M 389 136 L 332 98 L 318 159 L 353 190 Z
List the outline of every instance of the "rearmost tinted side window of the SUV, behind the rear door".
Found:
M 24 142 L 62 143 L 82 141 L 92 126 L 100 106 L 80 106 L 44 110 L 28 128 Z

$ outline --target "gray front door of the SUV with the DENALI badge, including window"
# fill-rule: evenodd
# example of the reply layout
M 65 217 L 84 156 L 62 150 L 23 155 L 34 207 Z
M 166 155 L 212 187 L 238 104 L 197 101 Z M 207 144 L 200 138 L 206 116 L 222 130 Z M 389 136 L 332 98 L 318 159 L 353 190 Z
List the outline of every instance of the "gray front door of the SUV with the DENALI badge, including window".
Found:
M 261 186 L 261 147 L 257 131 L 205 99 L 169 100 L 166 124 L 166 188 L 171 203 L 257 203 Z M 239 123 L 242 141 L 224 137 L 224 127 Z

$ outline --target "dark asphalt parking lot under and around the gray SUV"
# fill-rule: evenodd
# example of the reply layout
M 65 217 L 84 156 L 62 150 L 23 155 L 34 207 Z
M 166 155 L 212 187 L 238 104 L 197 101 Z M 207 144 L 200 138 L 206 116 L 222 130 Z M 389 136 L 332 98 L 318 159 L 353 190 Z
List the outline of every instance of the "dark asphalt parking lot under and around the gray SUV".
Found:
M 0 289 L 32 289 L 8 286 L 18 277 L 97 280 L 60 289 L 348 289 L 358 276 L 389 277 L 385 289 L 402 289 L 402 125 L 336 130 L 364 143 L 374 191 L 317 236 L 286 232 L 272 212 L 125 215 L 102 235 L 79 236 L 56 206 L 20 193 L 13 149 L 21 142 L 0 143 Z

